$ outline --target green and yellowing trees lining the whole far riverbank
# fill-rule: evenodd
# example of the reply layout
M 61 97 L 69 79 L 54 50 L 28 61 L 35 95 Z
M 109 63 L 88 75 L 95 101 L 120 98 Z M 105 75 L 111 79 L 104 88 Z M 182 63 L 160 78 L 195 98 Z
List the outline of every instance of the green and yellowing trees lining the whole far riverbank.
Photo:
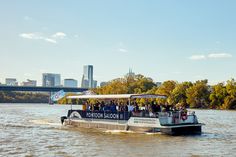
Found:
M 97 94 L 161 94 L 167 99 L 156 99 L 157 103 L 180 105 L 187 108 L 199 109 L 236 109 L 236 81 L 208 85 L 208 80 L 196 82 L 164 81 L 157 86 L 152 78 L 141 74 L 125 76 L 109 81 L 105 86 L 92 89 Z M 73 95 L 68 93 L 67 95 Z M 48 103 L 48 94 L 30 92 L 0 92 L 0 103 Z M 145 103 L 144 99 L 138 100 Z M 62 98 L 59 104 L 77 104 L 76 100 Z

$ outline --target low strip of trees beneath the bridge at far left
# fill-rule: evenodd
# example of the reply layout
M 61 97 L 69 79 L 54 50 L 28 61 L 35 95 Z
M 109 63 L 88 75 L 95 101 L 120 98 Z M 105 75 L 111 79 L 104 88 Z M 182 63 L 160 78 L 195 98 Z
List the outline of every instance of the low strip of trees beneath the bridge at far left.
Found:
M 0 103 L 48 103 L 48 94 L 0 91 Z

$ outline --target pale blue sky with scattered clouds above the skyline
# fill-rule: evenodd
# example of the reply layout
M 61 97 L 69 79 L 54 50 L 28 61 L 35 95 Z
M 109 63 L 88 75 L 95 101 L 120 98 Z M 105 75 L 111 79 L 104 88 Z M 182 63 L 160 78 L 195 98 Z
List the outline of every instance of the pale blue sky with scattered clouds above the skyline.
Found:
M 236 78 L 235 0 L 0 0 L 0 82 Z

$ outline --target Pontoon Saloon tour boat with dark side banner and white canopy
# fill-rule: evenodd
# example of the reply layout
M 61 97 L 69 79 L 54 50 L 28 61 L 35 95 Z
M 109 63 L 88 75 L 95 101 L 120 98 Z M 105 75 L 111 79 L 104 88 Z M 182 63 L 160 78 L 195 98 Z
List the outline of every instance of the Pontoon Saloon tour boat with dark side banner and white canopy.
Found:
M 194 111 L 166 110 L 153 112 L 144 107 L 134 110 L 133 102 L 137 99 L 166 98 L 164 95 L 152 94 L 111 94 L 111 95 L 76 95 L 68 96 L 67 99 L 94 100 L 106 102 L 118 102 L 126 100 L 126 110 L 107 109 L 106 105 L 91 108 L 91 105 L 82 105 L 81 109 L 68 110 L 67 116 L 61 117 L 65 126 L 82 128 L 95 128 L 102 130 L 124 130 L 134 132 L 160 132 L 165 134 L 201 134 L 202 123 L 198 122 Z M 114 105 L 114 104 L 113 104 Z M 153 104 L 156 105 L 156 104 Z M 90 106 L 90 108 L 88 108 Z M 136 104 L 137 106 L 137 104 Z M 150 108 L 151 104 L 146 105 Z M 112 108 L 111 105 L 109 105 Z M 128 108 L 128 110 L 127 110 Z M 162 107 L 163 108 L 163 107 Z

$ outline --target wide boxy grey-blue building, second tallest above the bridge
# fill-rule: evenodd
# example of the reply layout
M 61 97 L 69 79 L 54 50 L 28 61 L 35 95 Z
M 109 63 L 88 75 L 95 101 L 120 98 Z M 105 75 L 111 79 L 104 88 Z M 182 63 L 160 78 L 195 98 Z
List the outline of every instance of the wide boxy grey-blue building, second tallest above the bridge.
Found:
M 43 87 L 58 87 L 61 86 L 61 75 L 52 73 L 43 73 Z

